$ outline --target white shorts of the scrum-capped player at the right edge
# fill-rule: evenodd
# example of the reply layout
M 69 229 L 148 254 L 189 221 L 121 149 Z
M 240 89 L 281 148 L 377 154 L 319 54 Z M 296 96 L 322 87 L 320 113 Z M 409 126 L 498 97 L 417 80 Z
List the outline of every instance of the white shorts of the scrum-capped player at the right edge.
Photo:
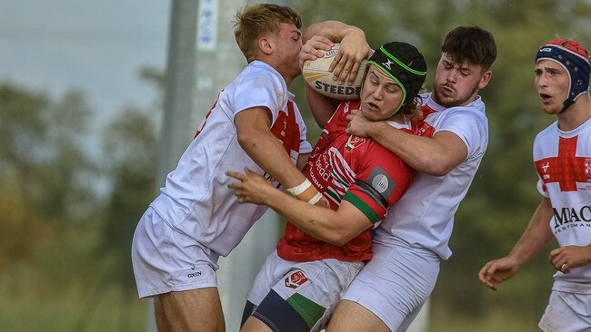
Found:
M 545 332 L 591 330 L 591 295 L 552 290 L 538 327 Z

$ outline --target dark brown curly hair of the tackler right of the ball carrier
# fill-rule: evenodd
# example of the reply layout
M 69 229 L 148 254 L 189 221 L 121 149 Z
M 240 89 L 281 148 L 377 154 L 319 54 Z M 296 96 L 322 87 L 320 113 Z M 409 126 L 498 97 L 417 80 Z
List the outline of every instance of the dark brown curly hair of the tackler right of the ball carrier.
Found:
M 495 37 L 479 26 L 458 26 L 446 35 L 441 52 L 456 63 L 482 64 L 488 70 L 496 59 Z

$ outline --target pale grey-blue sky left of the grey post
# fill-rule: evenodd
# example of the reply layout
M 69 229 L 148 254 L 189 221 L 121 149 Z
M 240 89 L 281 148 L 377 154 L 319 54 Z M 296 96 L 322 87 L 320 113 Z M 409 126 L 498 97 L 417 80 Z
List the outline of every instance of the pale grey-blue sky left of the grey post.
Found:
M 0 0 L 0 81 L 59 96 L 82 89 L 104 124 L 155 89 L 144 65 L 164 70 L 170 1 Z

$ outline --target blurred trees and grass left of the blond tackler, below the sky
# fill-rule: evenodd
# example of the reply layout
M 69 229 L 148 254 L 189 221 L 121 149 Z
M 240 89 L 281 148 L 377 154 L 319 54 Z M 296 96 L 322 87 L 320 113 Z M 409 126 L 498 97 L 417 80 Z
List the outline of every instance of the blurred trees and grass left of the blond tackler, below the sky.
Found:
M 139 78 L 164 91 L 159 69 Z M 83 92 L 0 84 L 0 330 L 145 330 L 130 249 L 155 195 L 161 100 L 122 109 L 92 160 Z

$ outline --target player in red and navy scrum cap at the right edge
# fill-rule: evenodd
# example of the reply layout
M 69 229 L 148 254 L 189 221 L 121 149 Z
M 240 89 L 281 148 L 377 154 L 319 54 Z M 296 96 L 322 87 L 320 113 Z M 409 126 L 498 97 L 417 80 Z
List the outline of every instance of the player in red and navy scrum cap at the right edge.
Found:
M 496 290 L 555 239 L 548 261 L 556 269 L 542 331 L 591 330 L 591 98 L 589 52 L 571 39 L 554 39 L 536 54 L 536 89 L 556 122 L 534 141 L 542 201 L 509 255 L 491 260 L 478 277 Z

